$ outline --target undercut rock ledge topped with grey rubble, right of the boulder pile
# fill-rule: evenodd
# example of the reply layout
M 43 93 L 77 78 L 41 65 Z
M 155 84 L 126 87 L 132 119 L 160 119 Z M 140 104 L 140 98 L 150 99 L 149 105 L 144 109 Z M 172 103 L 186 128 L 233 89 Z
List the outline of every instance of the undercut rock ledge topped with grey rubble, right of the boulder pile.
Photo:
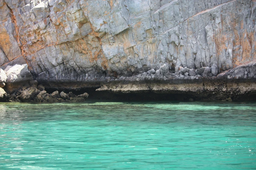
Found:
M 182 68 L 181 68 L 182 69 Z M 180 69 L 180 70 L 181 70 Z M 94 83 L 47 86 L 49 89 L 83 91 L 96 89 L 94 99 L 118 100 L 256 100 L 256 61 L 247 62 L 218 76 L 178 76 L 180 70 L 170 77 L 147 72 L 133 77 L 113 78 Z M 189 70 L 189 69 L 188 69 Z M 187 73 L 187 72 L 185 72 Z M 184 73 L 183 73 L 184 74 Z M 200 75 L 202 74 L 202 75 Z M 152 76 L 154 79 L 152 79 Z M 147 77 L 151 77 L 147 78 Z

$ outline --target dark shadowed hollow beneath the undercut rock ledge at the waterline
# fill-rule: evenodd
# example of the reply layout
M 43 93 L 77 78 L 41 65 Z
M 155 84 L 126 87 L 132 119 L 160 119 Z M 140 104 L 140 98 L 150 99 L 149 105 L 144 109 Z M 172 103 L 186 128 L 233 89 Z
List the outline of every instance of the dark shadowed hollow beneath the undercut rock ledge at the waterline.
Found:
M 256 100 L 256 93 L 248 93 L 244 95 L 232 95 L 232 96 L 219 96 L 218 94 L 202 92 L 201 94 L 193 93 L 156 93 L 152 91 L 138 92 L 138 93 L 123 93 L 123 92 L 108 92 L 108 91 L 96 91 L 97 87 L 84 87 L 77 89 L 69 89 L 63 87 L 47 87 L 45 91 L 52 93 L 61 91 L 65 93 L 72 92 L 75 95 L 83 94 L 87 92 L 89 94 L 88 100 L 118 100 L 118 101 L 189 101 L 189 100 L 226 100 L 231 98 L 232 100 Z

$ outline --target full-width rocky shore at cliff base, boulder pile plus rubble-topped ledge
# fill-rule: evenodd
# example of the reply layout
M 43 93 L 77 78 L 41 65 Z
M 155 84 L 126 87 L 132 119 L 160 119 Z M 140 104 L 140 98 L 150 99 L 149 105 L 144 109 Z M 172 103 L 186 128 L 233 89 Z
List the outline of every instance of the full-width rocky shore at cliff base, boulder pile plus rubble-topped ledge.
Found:
M 171 73 L 163 66 L 156 71 L 151 69 L 132 77 L 105 78 L 105 81 L 40 84 L 33 79 L 26 64 L 16 64 L 0 69 L 0 100 L 83 102 L 89 94 L 91 99 L 108 100 L 256 100 L 256 61 L 217 76 L 213 76 L 216 74 L 214 68 L 179 67 Z

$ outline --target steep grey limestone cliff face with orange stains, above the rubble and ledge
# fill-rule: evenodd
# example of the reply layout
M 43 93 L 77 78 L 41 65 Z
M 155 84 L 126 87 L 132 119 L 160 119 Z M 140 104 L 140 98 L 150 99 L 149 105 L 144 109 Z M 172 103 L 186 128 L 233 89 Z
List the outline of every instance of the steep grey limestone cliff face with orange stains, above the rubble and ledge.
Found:
M 256 59 L 255 19 L 255 0 L 0 0 L 0 65 L 44 83 L 221 73 Z

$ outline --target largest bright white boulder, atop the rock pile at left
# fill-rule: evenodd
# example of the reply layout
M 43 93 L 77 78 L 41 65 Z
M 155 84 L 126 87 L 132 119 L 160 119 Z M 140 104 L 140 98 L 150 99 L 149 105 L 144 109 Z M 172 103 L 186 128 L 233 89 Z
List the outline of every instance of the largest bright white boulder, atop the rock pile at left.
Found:
M 6 71 L 7 83 L 28 82 L 33 80 L 31 73 L 27 69 L 27 64 L 14 65 Z

